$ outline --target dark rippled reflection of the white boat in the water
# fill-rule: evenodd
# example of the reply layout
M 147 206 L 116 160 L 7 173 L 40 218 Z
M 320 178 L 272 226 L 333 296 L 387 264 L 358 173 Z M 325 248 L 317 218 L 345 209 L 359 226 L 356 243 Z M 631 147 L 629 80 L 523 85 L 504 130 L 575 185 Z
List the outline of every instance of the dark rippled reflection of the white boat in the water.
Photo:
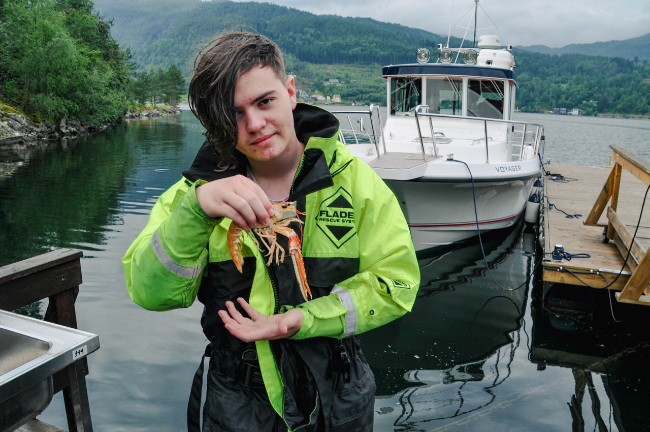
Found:
M 484 236 L 486 260 L 495 278 L 485 277 L 478 244 L 464 244 L 433 258 L 421 258 L 416 306 L 400 319 L 399 332 L 363 338 L 373 370 L 393 375 L 378 386 L 376 431 L 427 431 L 441 420 L 478 411 L 497 400 L 493 389 L 510 376 L 528 287 L 521 252 L 523 226 Z M 530 234 L 533 235 L 532 233 Z M 510 290 L 510 286 L 521 286 Z M 406 335 L 411 335 L 406 336 Z M 388 344 L 390 351 L 373 344 Z M 394 366 L 399 364 L 400 370 Z M 401 375 L 406 381 L 395 381 Z M 394 394 L 392 394 L 394 393 Z M 392 394 L 392 396 L 391 396 Z

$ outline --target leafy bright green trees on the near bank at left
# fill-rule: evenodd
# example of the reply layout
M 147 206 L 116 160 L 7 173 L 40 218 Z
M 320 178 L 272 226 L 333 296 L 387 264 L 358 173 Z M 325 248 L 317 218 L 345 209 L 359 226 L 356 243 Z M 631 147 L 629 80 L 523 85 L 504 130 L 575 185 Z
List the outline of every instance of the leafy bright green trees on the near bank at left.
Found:
M 115 122 L 135 64 L 90 0 L 2 0 L 0 96 L 49 119 Z

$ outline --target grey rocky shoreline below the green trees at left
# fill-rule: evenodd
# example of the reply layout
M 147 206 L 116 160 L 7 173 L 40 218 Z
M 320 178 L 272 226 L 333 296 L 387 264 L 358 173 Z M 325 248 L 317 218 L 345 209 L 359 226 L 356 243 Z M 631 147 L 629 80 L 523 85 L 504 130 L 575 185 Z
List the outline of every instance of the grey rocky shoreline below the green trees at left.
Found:
M 177 107 L 159 108 L 138 113 L 127 113 L 125 120 L 159 117 L 180 113 Z M 82 124 L 73 118 L 64 118 L 58 124 L 40 122 L 35 125 L 25 116 L 9 113 L 0 109 L 0 148 L 7 146 L 29 146 L 38 141 L 56 141 L 62 138 L 76 138 L 89 133 L 97 133 L 107 129 L 109 125 L 98 126 Z

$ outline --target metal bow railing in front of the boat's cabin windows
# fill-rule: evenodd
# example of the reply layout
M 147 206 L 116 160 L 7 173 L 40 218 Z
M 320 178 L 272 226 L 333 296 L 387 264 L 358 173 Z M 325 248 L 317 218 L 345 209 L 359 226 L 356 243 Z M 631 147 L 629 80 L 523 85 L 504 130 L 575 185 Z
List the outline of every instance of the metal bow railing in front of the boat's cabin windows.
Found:
M 419 108 L 419 107 L 417 107 Z M 500 131 L 506 131 L 506 144 L 510 146 L 510 157 L 513 161 L 521 161 L 526 158 L 526 149 L 532 148 L 532 154 L 536 155 L 539 152 L 539 147 L 541 142 L 544 139 L 544 129 L 543 126 L 534 123 L 528 122 L 519 122 L 516 120 L 502 120 L 500 118 L 487 118 L 487 117 L 460 117 L 454 115 L 438 114 L 438 113 L 428 113 L 421 112 L 421 109 L 415 109 L 415 123 L 417 125 L 417 134 L 420 143 L 421 143 L 421 154 L 422 158 L 426 159 L 426 153 L 424 152 L 424 141 L 431 140 L 434 145 L 435 155 L 437 156 L 437 146 L 435 145 L 436 136 L 442 136 L 447 139 L 447 142 L 453 141 L 453 137 L 450 135 L 445 136 L 444 133 L 440 130 L 436 130 L 435 124 L 436 120 L 444 119 L 449 125 L 449 122 L 462 122 L 467 128 L 467 122 L 480 122 L 481 126 L 476 125 L 475 128 L 469 129 L 478 129 L 482 131 L 482 137 L 471 139 L 472 144 L 477 144 L 478 142 L 485 142 L 485 152 L 486 152 L 486 163 L 489 163 L 489 144 L 494 142 L 494 137 L 489 135 L 489 131 L 495 130 L 493 126 L 489 125 L 502 125 L 499 129 Z M 427 117 L 429 120 L 430 136 L 423 136 L 422 129 L 420 126 L 419 117 Z M 459 139 L 460 138 L 456 138 Z M 518 150 L 518 151 L 516 151 Z

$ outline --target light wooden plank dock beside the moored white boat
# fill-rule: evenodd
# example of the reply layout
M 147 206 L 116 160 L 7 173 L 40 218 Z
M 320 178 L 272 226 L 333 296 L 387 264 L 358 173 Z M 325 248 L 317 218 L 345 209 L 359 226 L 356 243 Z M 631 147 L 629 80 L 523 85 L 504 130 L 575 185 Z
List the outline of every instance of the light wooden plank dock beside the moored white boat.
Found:
M 555 180 L 553 176 L 547 176 L 545 179 L 543 280 L 595 288 L 611 284 L 608 288 L 623 290 L 640 261 L 638 256 L 645 254 L 650 246 L 650 209 L 643 212 L 636 234 L 635 243 L 640 249 L 636 253 L 637 258 L 630 256 L 628 263 L 631 262 L 632 265 L 623 266 L 625 256 L 621 250 L 627 250 L 627 246 L 621 245 L 620 237 L 624 236 L 615 236 L 608 243 L 603 242 L 603 231 L 608 224 L 608 211 L 603 211 L 599 217 L 599 226 L 584 224 L 599 199 L 603 186 L 608 182 L 612 167 L 547 165 L 546 170 L 560 175 Z M 635 175 L 626 169 L 622 170 L 616 215 L 627 228 L 630 237 L 639 223 L 646 188 Z M 567 214 L 575 217 L 569 217 Z M 624 231 L 621 229 L 621 232 Z M 616 243 L 619 243 L 618 247 Z M 625 243 L 629 244 L 629 239 Z M 575 256 L 570 260 L 552 260 L 551 252 L 555 245 L 562 245 L 564 252 Z M 588 254 L 589 257 L 582 258 L 578 254 Z M 645 291 L 647 295 L 647 288 Z M 630 303 L 648 304 L 646 295 L 641 296 L 641 301 Z

